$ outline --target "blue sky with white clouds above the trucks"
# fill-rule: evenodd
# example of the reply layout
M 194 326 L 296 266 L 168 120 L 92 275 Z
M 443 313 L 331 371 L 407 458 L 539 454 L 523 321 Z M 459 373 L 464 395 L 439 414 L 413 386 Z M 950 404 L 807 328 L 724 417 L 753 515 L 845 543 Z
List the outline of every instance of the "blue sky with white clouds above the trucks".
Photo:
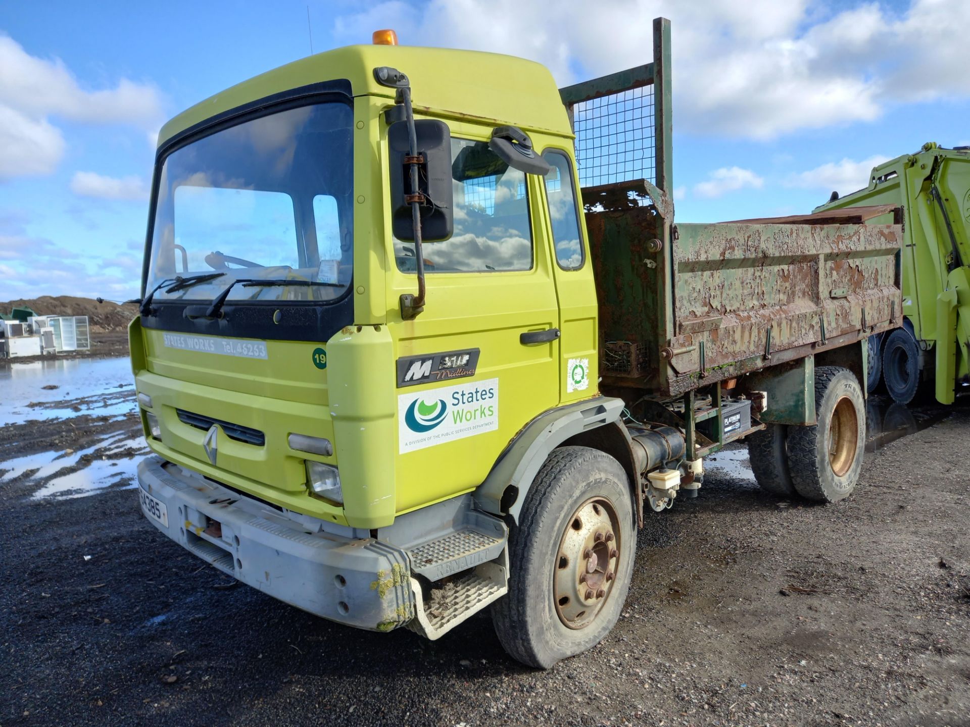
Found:
M 923 142 L 970 143 L 944 0 L 309 2 L 316 51 L 408 45 L 545 63 L 565 85 L 650 60 L 671 18 L 677 219 L 807 212 Z M 309 52 L 307 2 L 0 5 L 0 300 L 137 295 L 153 140 L 169 116 Z

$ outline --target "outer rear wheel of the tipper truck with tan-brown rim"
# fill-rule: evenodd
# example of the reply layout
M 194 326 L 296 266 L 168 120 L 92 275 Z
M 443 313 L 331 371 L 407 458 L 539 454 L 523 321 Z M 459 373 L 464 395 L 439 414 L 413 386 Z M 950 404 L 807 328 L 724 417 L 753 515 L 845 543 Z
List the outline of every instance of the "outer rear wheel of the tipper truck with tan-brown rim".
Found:
M 865 454 L 865 401 L 852 371 L 815 369 L 815 415 L 812 427 L 789 427 L 792 484 L 802 497 L 837 502 L 856 489 Z

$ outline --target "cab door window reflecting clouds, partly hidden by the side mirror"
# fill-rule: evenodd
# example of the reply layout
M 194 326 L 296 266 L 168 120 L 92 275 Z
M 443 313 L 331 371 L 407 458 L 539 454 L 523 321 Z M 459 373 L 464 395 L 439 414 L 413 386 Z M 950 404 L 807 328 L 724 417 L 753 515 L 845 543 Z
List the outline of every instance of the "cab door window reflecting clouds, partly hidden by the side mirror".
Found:
M 425 242 L 425 272 L 502 272 L 533 267 L 526 175 L 487 142 L 451 139 L 454 235 Z M 394 240 L 398 269 L 414 272 L 414 244 Z

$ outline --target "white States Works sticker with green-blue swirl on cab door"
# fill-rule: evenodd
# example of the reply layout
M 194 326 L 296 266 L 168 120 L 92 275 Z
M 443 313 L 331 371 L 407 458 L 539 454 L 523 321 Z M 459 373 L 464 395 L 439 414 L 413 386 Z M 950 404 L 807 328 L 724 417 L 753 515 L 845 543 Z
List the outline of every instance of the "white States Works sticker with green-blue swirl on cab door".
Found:
M 499 428 L 499 379 L 398 396 L 401 454 Z

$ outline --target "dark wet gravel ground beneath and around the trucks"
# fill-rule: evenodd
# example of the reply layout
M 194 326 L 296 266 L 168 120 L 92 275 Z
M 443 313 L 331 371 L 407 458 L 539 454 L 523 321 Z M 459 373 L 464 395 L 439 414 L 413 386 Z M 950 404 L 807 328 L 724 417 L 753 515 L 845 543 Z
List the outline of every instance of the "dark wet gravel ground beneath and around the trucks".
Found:
M 549 672 L 488 617 L 432 643 L 307 616 L 159 535 L 132 490 L 36 499 L 24 476 L 0 486 L 0 725 L 970 725 L 968 425 L 881 447 L 827 507 L 719 455 L 647 519 L 612 634 Z

